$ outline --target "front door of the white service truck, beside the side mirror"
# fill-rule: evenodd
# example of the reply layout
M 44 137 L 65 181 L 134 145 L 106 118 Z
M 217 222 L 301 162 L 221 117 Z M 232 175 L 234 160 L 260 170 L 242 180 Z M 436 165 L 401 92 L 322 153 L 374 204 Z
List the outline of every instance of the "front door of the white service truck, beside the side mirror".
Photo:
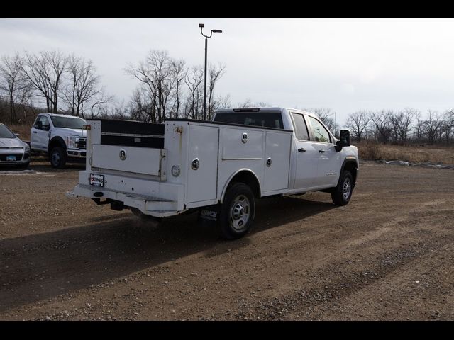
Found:
M 309 115 L 306 115 L 306 118 L 312 132 L 311 146 L 316 149 L 319 159 L 315 184 L 324 187 L 336 186 L 341 167 L 339 152 L 336 152 L 334 141 L 321 122 Z

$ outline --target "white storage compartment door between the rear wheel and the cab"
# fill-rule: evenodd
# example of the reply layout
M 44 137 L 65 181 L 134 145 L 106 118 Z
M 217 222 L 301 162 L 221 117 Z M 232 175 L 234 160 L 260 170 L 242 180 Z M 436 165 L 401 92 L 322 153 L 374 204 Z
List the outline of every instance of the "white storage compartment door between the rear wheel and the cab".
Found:
M 289 187 L 292 135 L 284 132 L 267 131 L 265 138 L 265 177 L 262 184 L 263 193 Z

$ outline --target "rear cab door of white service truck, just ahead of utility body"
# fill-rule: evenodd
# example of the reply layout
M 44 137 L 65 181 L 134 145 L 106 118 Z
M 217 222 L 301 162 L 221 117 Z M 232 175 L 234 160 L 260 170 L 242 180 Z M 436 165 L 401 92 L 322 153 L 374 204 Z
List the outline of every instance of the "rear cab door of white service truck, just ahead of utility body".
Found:
M 319 151 L 309 141 L 309 132 L 303 115 L 292 113 L 294 137 L 297 152 L 294 189 L 306 189 L 315 186 Z

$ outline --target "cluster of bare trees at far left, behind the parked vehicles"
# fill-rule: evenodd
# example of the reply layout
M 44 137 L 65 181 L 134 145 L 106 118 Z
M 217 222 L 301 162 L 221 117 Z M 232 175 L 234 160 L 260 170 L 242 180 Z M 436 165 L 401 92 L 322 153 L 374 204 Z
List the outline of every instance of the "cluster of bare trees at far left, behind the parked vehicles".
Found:
M 0 118 L 30 123 L 39 112 L 94 117 L 113 96 L 92 60 L 57 51 L 0 57 Z

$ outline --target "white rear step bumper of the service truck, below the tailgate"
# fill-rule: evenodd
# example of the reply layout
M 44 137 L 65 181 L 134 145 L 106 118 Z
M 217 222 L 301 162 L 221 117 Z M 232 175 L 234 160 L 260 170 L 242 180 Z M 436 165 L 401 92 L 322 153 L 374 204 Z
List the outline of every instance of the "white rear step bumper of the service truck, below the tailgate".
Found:
M 110 198 L 154 217 L 168 217 L 185 211 L 181 185 L 103 174 L 106 187 L 99 187 L 89 185 L 89 174 L 90 171 L 79 171 L 79 184 L 73 191 L 67 192 L 66 196 Z M 132 188 L 135 188 L 135 191 L 132 191 Z

